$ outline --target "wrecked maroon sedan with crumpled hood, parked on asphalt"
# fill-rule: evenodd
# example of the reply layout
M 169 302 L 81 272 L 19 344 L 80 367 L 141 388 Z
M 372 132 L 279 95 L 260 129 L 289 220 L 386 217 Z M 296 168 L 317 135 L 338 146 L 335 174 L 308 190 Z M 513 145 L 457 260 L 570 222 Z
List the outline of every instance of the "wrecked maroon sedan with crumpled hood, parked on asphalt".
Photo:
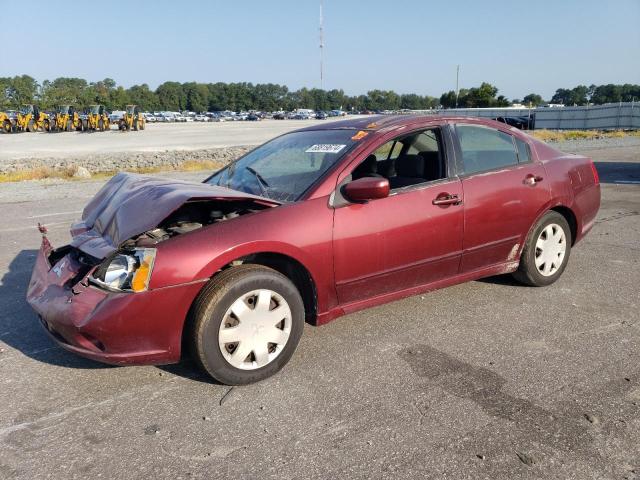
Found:
M 490 275 L 544 286 L 600 205 L 590 159 L 503 123 L 369 117 L 277 137 L 204 183 L 121 173 L 28 301 L 64 348 L 228 384 L 274 374 L 305 320 Z M 428 312 L 425 312 L 428 315 Z

